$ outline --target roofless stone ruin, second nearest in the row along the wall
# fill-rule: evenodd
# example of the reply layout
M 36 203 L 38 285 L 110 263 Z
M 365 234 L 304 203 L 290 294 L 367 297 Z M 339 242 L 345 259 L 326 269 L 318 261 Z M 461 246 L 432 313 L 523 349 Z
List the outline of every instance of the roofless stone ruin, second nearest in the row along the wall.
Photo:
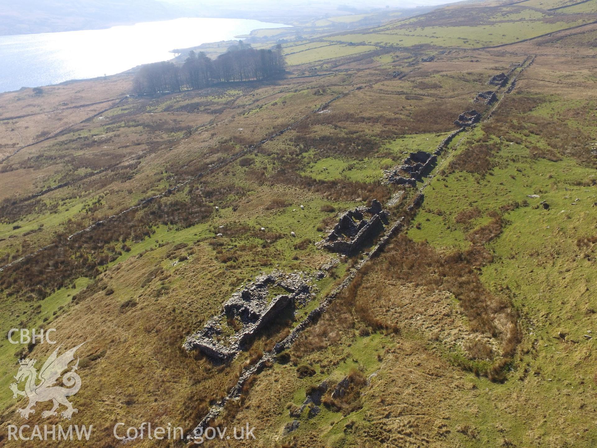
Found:
M 370 207 L 356 207 L 342 214 L 328 236 L 316 244 L 331 252 L 355 253 L 383 231 L 388 216 L 389 212 L 381 209 L 380 202 L 373 200 Z

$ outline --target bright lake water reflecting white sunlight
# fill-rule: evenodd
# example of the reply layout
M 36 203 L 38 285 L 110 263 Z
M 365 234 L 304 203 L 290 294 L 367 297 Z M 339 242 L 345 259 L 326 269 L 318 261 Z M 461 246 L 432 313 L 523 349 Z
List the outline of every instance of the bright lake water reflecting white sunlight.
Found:
M 109 29 L 0 36 L 0 92 L 96 78 L 176 56 L 170 50 L 234 39 L 281 23 L 186 18 Z

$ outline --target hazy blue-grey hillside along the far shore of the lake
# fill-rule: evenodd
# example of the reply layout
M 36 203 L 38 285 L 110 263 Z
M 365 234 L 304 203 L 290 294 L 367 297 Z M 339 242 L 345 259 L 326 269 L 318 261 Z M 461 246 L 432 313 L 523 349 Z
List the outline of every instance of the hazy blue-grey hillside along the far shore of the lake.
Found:
M 431 0 L 430 3 L 434 1 Z M 263 22 L 306 24 L 346 13 L 353 17 L 385 13 L 386 2 L 368 2 L 355 8 L 340 0 L 313 2 L 293 0 L 283 4 L 270 0 L 243 4 L 236 1 L 191 0 L 5 0 L 0 8 L 0 35 L 100 29 L 118 24 L 133 24 L 178 17 L 226 17 Z M 417 14 L 431 7 L 414 8 L 415 2 L 387 2 L 391 8 L 410 8 Z M 426 4 L 426 0 L 416 4 Z M 404 11 L 404 9 L 402 9 Z M 355 14 L 358 12 L 359 14 Z M 409 14 L 412 15 L 412 14 Z M 354 22 L 350 20 L 349 22 Z M 378 24 L 369 23 L 368 25 Z M 355 23 L 356 24 L 356 23 Z M 363 24 L 359 24 L 363 26 Z M 352 27 L 351 27 L 352 28 Z

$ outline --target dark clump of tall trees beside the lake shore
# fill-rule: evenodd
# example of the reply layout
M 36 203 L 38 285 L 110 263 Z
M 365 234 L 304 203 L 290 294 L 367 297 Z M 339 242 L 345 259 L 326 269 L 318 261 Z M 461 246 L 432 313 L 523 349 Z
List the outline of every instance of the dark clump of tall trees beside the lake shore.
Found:
M 189 52 L 184 64 L 156 62 L 141 66 L 135 76 L 137 94 L 180 92 L 208 87 L 219 82 L 275 78 L 284 72 L 282 46 L 256 50 L 239 41 L 212 60 L 204 52 Z

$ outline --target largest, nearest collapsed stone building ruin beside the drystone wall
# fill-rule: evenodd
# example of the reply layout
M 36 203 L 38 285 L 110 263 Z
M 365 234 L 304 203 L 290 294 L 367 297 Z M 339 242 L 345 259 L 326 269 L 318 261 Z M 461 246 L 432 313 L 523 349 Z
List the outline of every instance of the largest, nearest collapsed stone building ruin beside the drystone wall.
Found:
M 274 288 L 285 293 L 272 297 Z M 199 350 L 215 360 L 230 360 L 285 308 L 297 302 L 304 305 L 310 300 L 313 289 L 301 274 L 262 275 L 232 294 L 224 302 L 221 314 L 208 320 L 201 331 L 187 337 L 183 346 L 187 351 Z M 232 321 L 234 328 L 229 325 Z

